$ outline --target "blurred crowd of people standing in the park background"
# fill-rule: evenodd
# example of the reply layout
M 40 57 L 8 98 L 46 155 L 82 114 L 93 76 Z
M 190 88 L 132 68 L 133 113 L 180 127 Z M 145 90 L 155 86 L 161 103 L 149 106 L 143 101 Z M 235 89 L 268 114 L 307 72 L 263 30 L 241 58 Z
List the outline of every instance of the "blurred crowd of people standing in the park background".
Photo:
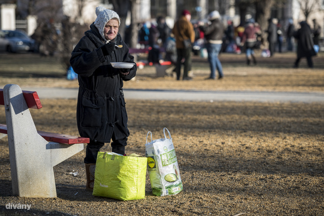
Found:
M 148 61 L 153 63 L 172 62 L 176 66 L 174 72 L 177 79 L 192 79 L 189 76 L 191 53 L 205 57 L 204 52 L 207 53 L 206 57 L 211 70 L 207 79 L 221 79 L 224 76 L 222 64 L 218 58 L 221 52 L 245 53 L 246 63 L 256 65 L 256 49 L 261 50 L 262 57 L 272 57 L 276 52 L 296 51 L 295 67 L 298 67 L 298 63 L 303 57 L 306 57 L 308 66 L 313 67 L 311 57 L 316 55 L 319 50 L 321 28 L 315 19 L 313 28 L 305 21 L 299 24 L 300 27 L 297 28 L 293 19 L 283 23 L 276 18 L 270 18 L 267 29 L 262 32 L 261 26 L 255 22 L 251 15 L 247 15 L 243 22 L 234 26 L 233 20 L 227 20 L 227 25 L 224 25 L 218 11 L 211 12 L 207 22 L 201 22 L 191 21 L 190 12 L 184 10 L 173 28 L 167 25 L 164 17 L 158 17 L 156 23 L 140 24 L 138 38 L 140 44 L 150 47 Z M 266 37 L 263 38 L 263 35 Z M 307 35 L 307 39 L 305 35 Z M 184 44 L 188 39 L 191 44 L 190 48 Z M 161 48 L 165 50 L 165 56 L 161 55 Z M 184 72 L 181 77 L 182 65 Z

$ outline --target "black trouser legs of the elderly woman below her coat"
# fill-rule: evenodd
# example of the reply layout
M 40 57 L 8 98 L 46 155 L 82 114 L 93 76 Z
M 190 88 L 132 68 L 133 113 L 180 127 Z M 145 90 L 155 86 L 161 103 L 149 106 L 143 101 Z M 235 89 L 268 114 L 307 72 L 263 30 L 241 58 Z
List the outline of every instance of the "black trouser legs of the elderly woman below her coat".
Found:
M 84 162 L 96 163 L 97 154 L 104 145 L 105 144 L 102 142 L 91 140 L 90 143 L 88 143 L 87 145 L 86 157 L 84 159 Z M 112 143 L 111 143 L 112 152 L 125 155 L 126 145 L 127 145 L 127 137 L 123 139 L 115 140 L 114 134 L 112 135 Z

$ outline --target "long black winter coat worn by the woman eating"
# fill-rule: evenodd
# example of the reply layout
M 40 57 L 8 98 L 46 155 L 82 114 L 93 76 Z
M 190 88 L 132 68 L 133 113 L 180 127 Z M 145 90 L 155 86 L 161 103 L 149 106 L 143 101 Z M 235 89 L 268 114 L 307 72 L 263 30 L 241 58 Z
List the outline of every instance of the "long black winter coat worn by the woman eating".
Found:
M 100 47 L 104 45 L 98 29 L 92 24 L 80 39 L 70 59 L 73 70 L 78 74 L 79 91 L 76 120 L 80 136 L 109 143 L 129 136 L 127 112 L 123 94 L 123 80 L 135 77 L 136 64 L 127 76 L 119 73 L 110 62 L 133 62 L 134 57 L 121 39 L 120 34 L 111 41 L 123 48 L 116 48 L 104 56 Z

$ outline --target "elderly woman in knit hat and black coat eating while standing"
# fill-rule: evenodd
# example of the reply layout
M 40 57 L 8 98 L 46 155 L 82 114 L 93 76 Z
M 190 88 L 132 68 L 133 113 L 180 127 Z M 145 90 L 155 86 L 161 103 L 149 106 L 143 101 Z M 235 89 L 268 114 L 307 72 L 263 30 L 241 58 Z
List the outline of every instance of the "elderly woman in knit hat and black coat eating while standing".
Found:
M 103 7 L 97 7 L 96 14 L 96 21 L 75 46 L 70 59 L 79 82 L 78 131 L 80 136 L 90 138 L 84 159 L 87 190 L 93 190 L 97 153 L 104 143 L 112 141 L 112 152 L 125 155 L 130 132 L 122 88 L 123 81 L 135 77 L 137 70 L 134 57 L 118 33 L 118 14 Z M 114 68 L 111 62 L 134 66 Z

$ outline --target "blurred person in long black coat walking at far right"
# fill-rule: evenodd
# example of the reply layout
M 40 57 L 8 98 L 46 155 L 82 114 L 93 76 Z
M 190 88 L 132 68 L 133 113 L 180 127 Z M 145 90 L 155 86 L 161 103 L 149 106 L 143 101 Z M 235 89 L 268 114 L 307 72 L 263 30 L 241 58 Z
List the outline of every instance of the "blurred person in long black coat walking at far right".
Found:
M 306 57 L 308 67 L 313 67 L 312 56 L 316 55 L 310 26 L 306 21 L 300 22 L 300 29 L 294 33 L 297 42 L 297 59 L 294 67 L 297 68 L 301 58 Z

